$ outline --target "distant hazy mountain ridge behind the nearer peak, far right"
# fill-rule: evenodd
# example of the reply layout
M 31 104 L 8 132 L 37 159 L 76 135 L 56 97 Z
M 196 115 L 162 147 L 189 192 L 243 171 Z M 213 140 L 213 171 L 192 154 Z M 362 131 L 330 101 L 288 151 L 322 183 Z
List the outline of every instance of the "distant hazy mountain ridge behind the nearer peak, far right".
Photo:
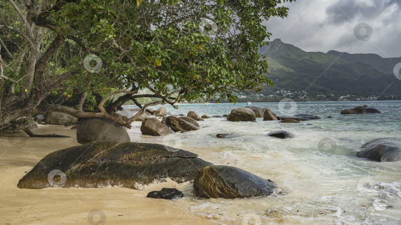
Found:
M 393 74 L 393 69 L 397 63 L 401 62 L 400 58 L 383 58 L 376 54 L 350 54 L 347 52 L 328 51 L 327 54 L 334 55 L 340 59 L 344 59 L 350 62 L 362 62 L 369 64 L 375 70 L 385 74 Z

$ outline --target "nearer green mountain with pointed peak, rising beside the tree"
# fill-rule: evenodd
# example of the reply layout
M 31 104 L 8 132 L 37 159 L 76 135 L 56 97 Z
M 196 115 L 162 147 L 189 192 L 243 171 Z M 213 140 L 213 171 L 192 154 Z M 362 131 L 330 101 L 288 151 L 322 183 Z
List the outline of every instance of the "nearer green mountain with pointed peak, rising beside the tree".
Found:
M 380 63 L 370 65 L 367 60 L 360 62 L 323 52 L 305 52 L 281 39 L 271 41 L 260 52 L 269 63 L 267 77 L 275 82 L 274 87 L 264 89 L 264 95 L 281 89 L 324 95 L 401 95 L 401 81 L 393 73 L 385 73 L 388 70 L 375 69 Z

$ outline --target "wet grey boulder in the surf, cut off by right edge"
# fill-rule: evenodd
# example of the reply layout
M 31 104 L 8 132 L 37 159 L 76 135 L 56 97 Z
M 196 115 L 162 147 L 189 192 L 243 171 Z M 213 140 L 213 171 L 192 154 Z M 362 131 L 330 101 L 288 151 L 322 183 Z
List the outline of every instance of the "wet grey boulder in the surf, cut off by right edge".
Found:
M 367 142 L 360 147 L 356 156 L 378 162 L 401 161 L 401 139 L 379 138 Z

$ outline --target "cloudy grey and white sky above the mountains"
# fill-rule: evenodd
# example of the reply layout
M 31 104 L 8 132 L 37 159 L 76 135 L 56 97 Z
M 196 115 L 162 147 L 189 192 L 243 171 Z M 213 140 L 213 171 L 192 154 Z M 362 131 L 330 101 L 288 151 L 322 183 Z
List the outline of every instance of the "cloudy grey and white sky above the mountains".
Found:
M 401 0 L 297 0 L 289 16 L 264 23 L 305 51 L 337 50 L 401 57 Z

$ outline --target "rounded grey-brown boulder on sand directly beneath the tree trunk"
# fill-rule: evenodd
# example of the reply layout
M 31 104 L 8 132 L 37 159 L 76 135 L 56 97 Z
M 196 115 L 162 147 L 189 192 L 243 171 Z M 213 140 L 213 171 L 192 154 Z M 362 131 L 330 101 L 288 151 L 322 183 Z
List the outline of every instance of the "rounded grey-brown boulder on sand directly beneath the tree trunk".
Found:
M 125 127 L 103 118 L 84 118 L 79 122 L 77 141 L 85 144 L 93 141 L 129 142 Z

